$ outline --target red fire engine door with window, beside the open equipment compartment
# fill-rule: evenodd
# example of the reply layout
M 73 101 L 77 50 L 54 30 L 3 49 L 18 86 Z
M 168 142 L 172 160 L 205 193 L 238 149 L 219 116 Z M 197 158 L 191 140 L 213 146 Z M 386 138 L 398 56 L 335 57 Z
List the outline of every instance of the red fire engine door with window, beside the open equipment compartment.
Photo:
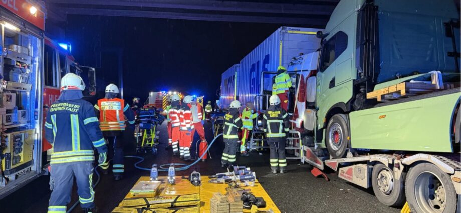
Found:
M 60 87 L 60 73 L 58 72 L 58 56 L 57 50 L 49 45 L 45 45 L 44 49 L 44 88 L 43 88 L 43 125 L 45 125 L 48 108 L 53 102 L 58 100 L 59 87 Z M 43 127 L 43 129 L 45 129 Z M 43 131 L 45 132 L 45 131 Z M 45 139 L 43 135 L 43 146 L 42 151 L 46 151 L 51 148 L 50 143 Z

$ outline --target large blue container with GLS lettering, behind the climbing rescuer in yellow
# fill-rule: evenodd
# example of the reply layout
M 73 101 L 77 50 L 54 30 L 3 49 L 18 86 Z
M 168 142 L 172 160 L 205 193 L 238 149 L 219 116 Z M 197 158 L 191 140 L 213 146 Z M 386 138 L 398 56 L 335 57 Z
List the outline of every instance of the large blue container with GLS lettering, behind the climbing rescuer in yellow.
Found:
M 294 57 L 300 53 L 314 52 L 320 48 L 320 39 L 316 32 L 323 29 L 280 27 L 253 49 L 240 61 L 240 72 L 237 75 L 237 95 L 239 101 L 255 102 L 257 110 L 266 109 L 266 97 L 262 94 L 272 94 L 272 78 L 279 65 L 288 67 Z M 263 79 L 261 79 L 263 78 Z

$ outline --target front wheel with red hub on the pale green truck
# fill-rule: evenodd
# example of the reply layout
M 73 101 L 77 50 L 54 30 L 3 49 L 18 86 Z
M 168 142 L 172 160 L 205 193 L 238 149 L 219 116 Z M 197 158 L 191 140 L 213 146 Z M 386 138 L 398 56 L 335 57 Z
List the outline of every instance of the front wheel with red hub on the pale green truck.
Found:
M 342 158 L 346 155 L 348 146 L 349 128 L 344 114 L 336 114 L 328 121 L 325 143 L 333 158 Z

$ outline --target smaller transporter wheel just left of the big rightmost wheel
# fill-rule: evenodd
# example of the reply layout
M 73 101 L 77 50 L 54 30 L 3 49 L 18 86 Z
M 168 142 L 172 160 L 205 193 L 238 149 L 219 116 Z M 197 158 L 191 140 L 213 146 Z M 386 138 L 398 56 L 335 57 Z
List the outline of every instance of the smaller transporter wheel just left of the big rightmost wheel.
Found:
M 405 204 L 405 177 L 406 173 L 402 172 L 400 179 L 396 180 L 391 168 L 377 163 L 371 173 L 371 184 L 376 198 L 391 207 Z

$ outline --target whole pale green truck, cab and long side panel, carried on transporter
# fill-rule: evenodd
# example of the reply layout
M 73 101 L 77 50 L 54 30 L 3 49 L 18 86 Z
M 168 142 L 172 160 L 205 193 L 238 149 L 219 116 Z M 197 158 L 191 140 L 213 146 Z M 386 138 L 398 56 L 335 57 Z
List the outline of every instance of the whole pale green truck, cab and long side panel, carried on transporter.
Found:
M 318 147 L 332 158 L 351 148 L 459 152 L 459 13 L 453 1 L 340 1 L 317 36 L 322 47 L 311 117 Z M 434 76 L 442 88 L 427 94 L 407 88 L 416 93 L 406 96 L 414 97 L 367 99 L 367 93 L 401 82 L 430 83 Z

